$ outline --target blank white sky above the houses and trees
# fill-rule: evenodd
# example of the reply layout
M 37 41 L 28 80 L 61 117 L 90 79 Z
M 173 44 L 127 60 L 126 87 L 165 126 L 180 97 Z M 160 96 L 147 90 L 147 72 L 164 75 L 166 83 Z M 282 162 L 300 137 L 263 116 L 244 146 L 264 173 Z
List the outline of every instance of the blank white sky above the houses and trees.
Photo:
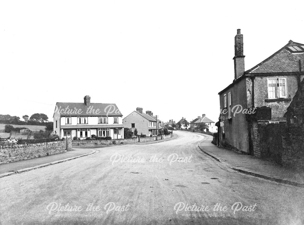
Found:
M 248 3 L 246 3 L 248 2 Z M 1 1 L 0 114 L 56 102 L 115 103 L 167 122 L 219 116 L 234 79 L 234 36 L 245 70 L 291 39 L 304 43 L 304 1 Z

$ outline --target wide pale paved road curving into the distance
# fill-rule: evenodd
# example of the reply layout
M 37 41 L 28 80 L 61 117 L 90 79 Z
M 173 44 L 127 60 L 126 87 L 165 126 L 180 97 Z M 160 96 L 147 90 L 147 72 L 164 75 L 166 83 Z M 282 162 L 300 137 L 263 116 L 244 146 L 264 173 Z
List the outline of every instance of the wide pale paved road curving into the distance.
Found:
M 197 148 L 202 135 L 178 135 L 0 179 L 1 224 L 304 223 L 303 188 L 237 173 Z

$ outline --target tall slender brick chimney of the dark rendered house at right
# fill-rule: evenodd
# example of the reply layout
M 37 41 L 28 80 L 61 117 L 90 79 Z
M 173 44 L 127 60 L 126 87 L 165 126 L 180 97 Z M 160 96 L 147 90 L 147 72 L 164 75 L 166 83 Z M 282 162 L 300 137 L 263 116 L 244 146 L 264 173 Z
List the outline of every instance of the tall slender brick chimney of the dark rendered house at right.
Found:
M 237 29 L 237 35 L 234 37 L 234 80 L 245 72 L 244 58 L 243 34 L 241 34 L 241 29 Z

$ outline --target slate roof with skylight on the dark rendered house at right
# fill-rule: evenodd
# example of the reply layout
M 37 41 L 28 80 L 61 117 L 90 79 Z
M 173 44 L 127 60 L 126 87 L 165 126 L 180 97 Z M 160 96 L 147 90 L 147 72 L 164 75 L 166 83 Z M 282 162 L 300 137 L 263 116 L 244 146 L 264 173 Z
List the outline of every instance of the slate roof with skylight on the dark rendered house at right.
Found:
M 302 50 L 301 43 L 296 43 L 290 40 L 287 45 L 279 49 L 273 55 L 268 57 L 266 60 L 257 64 L 245 73 L 278 73 L 278 72 L 298 72 L 299 71 L 299 60 L 302 61 L 301 69 L 304 71 L 304 52 L 303 51 L 292 51 L 288 46 L 296 46 Z

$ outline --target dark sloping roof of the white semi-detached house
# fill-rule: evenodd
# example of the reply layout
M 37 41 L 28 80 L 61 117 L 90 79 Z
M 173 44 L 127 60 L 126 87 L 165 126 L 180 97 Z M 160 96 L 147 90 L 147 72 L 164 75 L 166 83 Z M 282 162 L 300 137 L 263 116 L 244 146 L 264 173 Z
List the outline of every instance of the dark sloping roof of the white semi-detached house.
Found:
M 75 112 L 75 109 L 77 110 L 77 112 Z M 99 109 L 99 111 L 97 109 Z M 122 116 L 123 115 L 119 111 L 116 104 L 90 103 L 89 105 L 86 105 L 85 103 L 75 103 L 75 102 L 57 102 L 54 115 L 55 114 L 57 115 L 60 114 L 60 116 Z

